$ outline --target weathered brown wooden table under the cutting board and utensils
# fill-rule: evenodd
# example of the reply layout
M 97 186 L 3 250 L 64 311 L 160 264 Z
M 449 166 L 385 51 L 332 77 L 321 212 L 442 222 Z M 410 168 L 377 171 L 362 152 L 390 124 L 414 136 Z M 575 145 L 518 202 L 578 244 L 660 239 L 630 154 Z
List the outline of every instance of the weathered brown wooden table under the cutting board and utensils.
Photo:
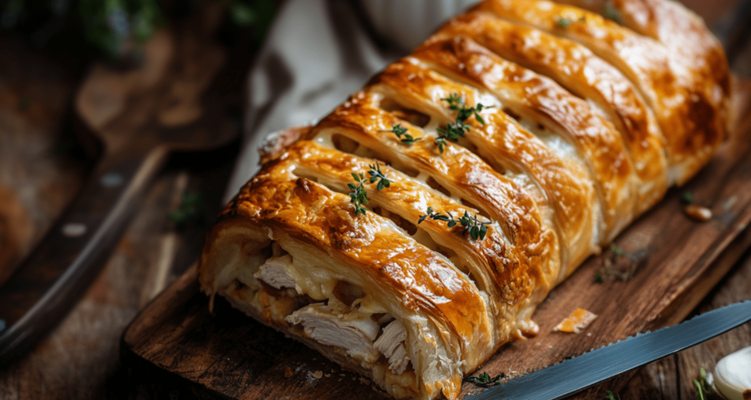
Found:
M 722 17 L 722 10 L 733 2 L 721 3 L 708 7 L 695 1 L 698 11 L 710 25 L 711 21 Z M 71 124 L 67 115 L 73 90 L 86 69 L 85 62 L 71 61 L 59 53 L 53 56 L 48 54 L 50 52 L 35 53 L 8 39 L 0 42 L 0 53 L 17 57 L 12 71 L 0 66 L 5 68 L 0 69 L 0 146 L 3 147 L 0 154 L 8 151 L 7 143 L 17 149 L 16 158 L 3 158 L 0 163 L 0 214 L 11 207 L 22 209 L 22 212 L 14 212 L 20 215 L 17 220 L 0 219 L 0 236 L 3 229 L 11 229 L 4 227 L 19 224 L 30 227 L 14 228 L 14 232 L 22 233 L 13 236 L 13 241 L 8 241 L 7 245 L 0 242 L 0 263 L 14 263 L 32 248 L 33 242 L 44 234 L 50 221 L 75 193 L 94 156 L 87 156 L 83 149 L 86 146 L 77 144 L 80 140 L 66 128 Z M 737 57 L 734 70 L 751 76 L 751 47 L 746 47 Z M 8 75 L 11 72 L 17 75 L 11 77 Z M 238 88 L 242 87 L 243 78 L 243 74 L 234 77 Z M 8 92 L 6 88 L 12 90 Z M 238 105 L 240 98 L 238 92 Z M 0 398 L 189 398 L 196 395 L 182 386 L 180 380 L 122 359 L 120 338 L 137 311 L 198 257 L 207 221 L 212 220 L 221 206 L 219 197 L 237 156 L 237 146 L 236 142 L 213 152 L 170 158 L 115 254 L 77 306 L 31 353 L 0 369 Z M 5 178 L 9 169 L 25 171 L 35 177 L 32 188 L 9 182 Z M 193 192 L 203 194 L 204 221 L 198 218 L 178 230 L 168 215 L 179 207 L 183 194 Z M 20 194 L 26 196 L 24 201 L 14 203 L 22 198 Z M 746 298 L 744 296 L 751 290 L 749 282 L 751 251 L 746 251 L 695 312 Z M 699 368 L 713 368 L 721 356 L 748 345 L 751 345 L 751 324 L 747 323 L 641 368 L 629 377 L 620 398 L 693 398 L 692 380 L 697 377 Z M 608 384 L 602 385 L 602 392 Z

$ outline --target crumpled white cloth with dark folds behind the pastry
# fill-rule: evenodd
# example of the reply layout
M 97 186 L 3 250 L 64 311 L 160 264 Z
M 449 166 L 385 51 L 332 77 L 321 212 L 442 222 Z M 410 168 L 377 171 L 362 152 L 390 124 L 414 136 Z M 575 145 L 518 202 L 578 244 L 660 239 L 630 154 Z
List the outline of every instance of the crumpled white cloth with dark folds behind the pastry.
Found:
M 225 201 L 258 172 L 258 148 L 270 134 L 325 116 L 375 72 L 477 1 L 286 2 L 250 71 L 243 149 Z

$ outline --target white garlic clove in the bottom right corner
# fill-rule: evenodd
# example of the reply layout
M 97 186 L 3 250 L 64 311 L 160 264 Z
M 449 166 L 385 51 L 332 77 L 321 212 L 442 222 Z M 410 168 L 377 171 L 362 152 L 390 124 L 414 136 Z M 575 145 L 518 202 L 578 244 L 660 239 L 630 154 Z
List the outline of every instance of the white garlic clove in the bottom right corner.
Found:
M 717 362 L 712 388 L 728 400 L 751 398 L 751 346 L 744 347 Z

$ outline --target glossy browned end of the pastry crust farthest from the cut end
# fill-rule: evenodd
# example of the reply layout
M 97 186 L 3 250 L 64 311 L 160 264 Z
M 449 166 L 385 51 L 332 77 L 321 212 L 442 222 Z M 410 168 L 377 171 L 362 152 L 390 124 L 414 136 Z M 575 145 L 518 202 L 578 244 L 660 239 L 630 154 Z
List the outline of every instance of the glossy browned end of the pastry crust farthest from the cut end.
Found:
M 588 2 L 593 13 L 546 0 L 493 0 L 475 10 L 576 41 L 620 69 L 652 107 L 668 143 L 669 183 L 683 184 L 725 137 L 729 98 L 725 54 L 701 19 L 675 2 L 606 4 Z M 625 26 L 596 14 L 607 7 Z M 562 18 L 571 23 L 562 27 Z

